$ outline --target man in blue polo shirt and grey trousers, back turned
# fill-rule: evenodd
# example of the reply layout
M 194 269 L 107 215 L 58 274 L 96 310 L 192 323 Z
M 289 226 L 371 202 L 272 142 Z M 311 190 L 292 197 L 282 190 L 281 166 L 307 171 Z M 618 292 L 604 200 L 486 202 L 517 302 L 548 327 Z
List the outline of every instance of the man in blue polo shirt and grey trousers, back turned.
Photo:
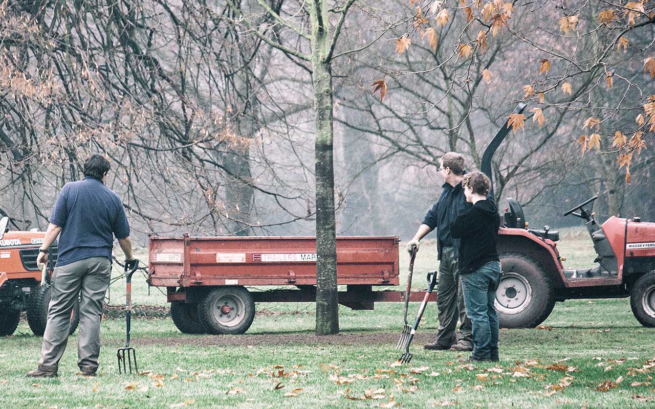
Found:
M 90 156 L 84 162 L 84 180 L 66 183 L 52 209 L 37 264 L 48 261 L 48 247 L 60 236 L 58 258 L 52 274 L 52 299 L 43 334 L 41 361 L 28 376 L 58 375 L 77 294 L 80 295 L 77 365 L 85 376 L 94 376 L 98 369 L 100 318 L 111 279 L 114 236 L 130 268 L 138 265 L 132 254 L 130 226 L 121 199 L 104 185 L 109 168 L 103 156 Z

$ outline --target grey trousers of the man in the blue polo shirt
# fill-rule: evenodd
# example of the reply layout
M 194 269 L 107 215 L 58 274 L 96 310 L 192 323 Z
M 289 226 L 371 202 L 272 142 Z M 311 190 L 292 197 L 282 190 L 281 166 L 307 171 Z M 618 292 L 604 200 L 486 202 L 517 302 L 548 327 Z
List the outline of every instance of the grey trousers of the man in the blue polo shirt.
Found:
M 39 369 L 56 371 L 68 341 L 71 308 L 80 294 L 80 324 L 77 334 L 77 366 L 84 372 L 98 369 L 100 319 L 105 292 L 111 279 L 111 260 L 91 257 L 55 267 L 48 322 L 43 334 Z

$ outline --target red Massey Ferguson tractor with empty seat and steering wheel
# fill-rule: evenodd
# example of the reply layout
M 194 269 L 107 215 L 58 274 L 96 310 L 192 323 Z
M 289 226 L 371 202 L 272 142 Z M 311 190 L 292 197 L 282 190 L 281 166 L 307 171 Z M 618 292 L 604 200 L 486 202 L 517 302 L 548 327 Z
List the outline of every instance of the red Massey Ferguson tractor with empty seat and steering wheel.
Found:
M 523 109 L 521 104 L 514 113 Z M 491 157 L 507 131 L 505 124 L 483 155 L 481 170 L 490 179 Z M 521 205 L 508 199 L 498 232 L 503 275 L 496 310 L 501 328 L 536 327 L 557 301 L 627 296 L 637 321 L 655 327 L 655 222 L 613 216 L 601 225 L 591 211 L 597 197 L 564 213 L 582 219 L 593 241 L 597 265 L 582 270 L 565 270 L 557 251 L 558 232 L 548 226 L 528 228 Z

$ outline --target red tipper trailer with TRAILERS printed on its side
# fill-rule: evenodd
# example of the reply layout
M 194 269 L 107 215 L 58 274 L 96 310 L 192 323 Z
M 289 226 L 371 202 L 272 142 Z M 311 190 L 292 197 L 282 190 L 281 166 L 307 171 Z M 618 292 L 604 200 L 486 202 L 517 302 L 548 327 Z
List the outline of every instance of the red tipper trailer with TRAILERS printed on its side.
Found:
M 150 237 L 148 283 L 166 287 L 171 316 L 181 332 L 242 334 L 255 302 L 312 302 L 316 287 L 314 237 Z M 376 301 L 403 301 L 398 285 L 398 237 L 337 238 L 339 304 L 373 310 Z M 296 289 L 248 291 L 244 286 Z M 423 292 L 411 293 L 421 301 Z M 432 299 L 436 298 L 433 294 Z

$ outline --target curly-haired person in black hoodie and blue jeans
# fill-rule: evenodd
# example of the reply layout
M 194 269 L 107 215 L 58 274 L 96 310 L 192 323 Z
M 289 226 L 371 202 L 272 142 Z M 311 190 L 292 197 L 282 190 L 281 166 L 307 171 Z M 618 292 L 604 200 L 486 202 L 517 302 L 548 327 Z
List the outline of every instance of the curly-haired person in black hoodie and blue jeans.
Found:
M 462 179 L 466 201 L 473 204 L 451 224 L 451 235 L 461 240 L 459 274 L 466 314 L 473 323 L 473 352 L 469 361 L 498 361 L 498 317 L 494 301 L 500 282 L 496 250 L 500 216 L 487 198 L 491 181 L 482 172 Z

